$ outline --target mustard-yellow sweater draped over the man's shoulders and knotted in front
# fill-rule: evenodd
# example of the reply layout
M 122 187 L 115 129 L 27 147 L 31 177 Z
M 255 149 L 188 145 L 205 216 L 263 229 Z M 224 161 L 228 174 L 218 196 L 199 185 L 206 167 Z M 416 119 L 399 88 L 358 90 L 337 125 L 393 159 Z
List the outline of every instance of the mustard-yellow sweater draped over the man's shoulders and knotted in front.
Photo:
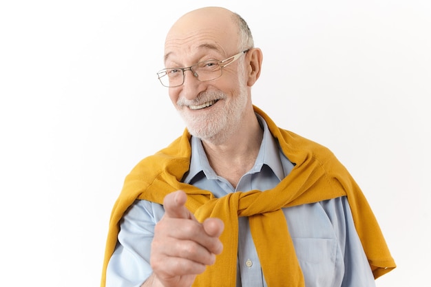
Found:
M 281 209 L 344 195 L 348 198 L 355 228 L 374 277 L 395 268 L 394 259 L 366 198 L 333 153 L 322 145 L 278 128 L 263 111 L 257 107 L 254 109 L 266 121 L 284 155 L 295 164 L 291 173 L 274 189 L 235 192 L 215 198 L 211 191 L 180 182 L 189 170 L 191 156 L 190 135 L 186 130 L 169 147 L 139 162 L 125 178 L 109 222 L 102 287 L 105 287 L 107 263 L 116 246 L 119 222 L 127 208 L 136 199 L 162 204 L 167 193 L 178 189 L 187 193 L 187 209 L 198 220 L 219 217 L 224 222 L 224 231 L 220 236 L 223 252 L 218 255 L 215 264 L 196 277 L 193 286 L 235 286 L 238 217 L 247 216 L 268 286 L 304 287 L 302 271 Z

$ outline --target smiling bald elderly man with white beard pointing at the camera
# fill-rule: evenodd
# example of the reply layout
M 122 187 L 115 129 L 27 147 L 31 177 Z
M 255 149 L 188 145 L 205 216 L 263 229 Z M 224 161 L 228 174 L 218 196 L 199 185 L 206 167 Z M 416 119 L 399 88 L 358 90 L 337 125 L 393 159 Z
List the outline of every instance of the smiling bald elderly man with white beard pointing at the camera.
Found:
M 252 104 L 261 66 L 229 10 L 171 27 L 158 78 L 187 129 L 127 176 L 102 286 L 375 286 L 395 268 L 335 156 Z

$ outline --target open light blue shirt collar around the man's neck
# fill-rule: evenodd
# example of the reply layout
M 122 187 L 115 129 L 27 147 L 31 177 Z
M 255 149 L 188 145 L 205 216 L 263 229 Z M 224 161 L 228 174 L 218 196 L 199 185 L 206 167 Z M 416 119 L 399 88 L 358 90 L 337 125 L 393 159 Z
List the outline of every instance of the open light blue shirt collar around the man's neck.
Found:
M 284 169 L 282 162 L 280 161 L 280 148 L 278 147 L 277 140 L 275 140 L 275 138 L 271 135 L 268 125 L 266 125 L 266 122 L 262 116 L 258 114 L 256 114 L 256 116 L 257 120 L 259 120 L 260 126 L 264 130 L 264 135 L 255 164 L 249 173 L 259 172 L 263 165 L 266 164 L 273 171 L 275 176 L 277 176 L 279 180 L 282 180 L 282 178 L 284 178 Z M 209 165 L 207 154 L 204 151 L 200 138 L 192 136 L 190 144 L 190 169 L 183 182 L 190 183 L 191 180 L 201 171 L 204 172 L 205 176 L 209 180 L 217 179 L 218 176 Z

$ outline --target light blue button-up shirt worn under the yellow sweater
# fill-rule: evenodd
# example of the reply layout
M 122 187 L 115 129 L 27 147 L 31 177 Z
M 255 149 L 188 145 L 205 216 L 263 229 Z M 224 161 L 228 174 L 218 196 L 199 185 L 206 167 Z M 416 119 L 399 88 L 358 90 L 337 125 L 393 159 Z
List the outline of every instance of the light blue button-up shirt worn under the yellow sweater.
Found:
M 288 176 L 293 164 L 284 156 L 264 120 L 262 145 L 253 168 L 236 189 L 209 165 L 202 142 L 191 138 L 190 170 L 184 182 L 222 197 L 235 191 L 267 190 Z M 306 287 L 372 287 L 375 280 L 353 224 L 347 198 L 283 209 Z M 138 287 L 151 275 L 149 264 L 154 226 L 162 205 L 136 200 L 120 222 L 118 242 L 107 266 L 107 287 Z M 237 286 L 266 287 L 250 233 L 248 217 L 239 217 Z M 273 268 L 283 268 L 274 262 Z

